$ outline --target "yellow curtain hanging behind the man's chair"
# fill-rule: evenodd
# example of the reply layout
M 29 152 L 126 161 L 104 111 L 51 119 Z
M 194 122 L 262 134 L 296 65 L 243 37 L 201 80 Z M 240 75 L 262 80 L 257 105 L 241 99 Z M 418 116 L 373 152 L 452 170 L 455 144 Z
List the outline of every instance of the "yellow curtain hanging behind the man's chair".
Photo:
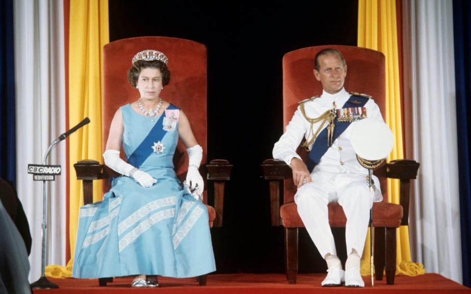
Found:
M 394 147 L 388 162 L 403 159 L 399 58 L 397 42 L 396 1 L 358 1 L 358 47 L 381 51 L 386 57 L 386 123 L 394 135 Z M 388 201 L 399 203 L 399 180 L 388 179 Z M 425 273 L 422 264 L 411 262 L 409 227 L 401 226 L 397 233 L 396 274 Z M 362 257 L 362 275 L 370 273 L 369 230 Z

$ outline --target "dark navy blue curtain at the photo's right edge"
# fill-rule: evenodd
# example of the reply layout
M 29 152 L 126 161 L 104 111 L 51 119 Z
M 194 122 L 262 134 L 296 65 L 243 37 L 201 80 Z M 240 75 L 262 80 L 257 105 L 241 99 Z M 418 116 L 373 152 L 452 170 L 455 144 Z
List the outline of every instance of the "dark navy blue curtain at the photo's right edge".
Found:
M 469 0 L 453 0 L 455 45 L 456 112 L 458 124 L 458 163 L 460 181 L 461 250 L 463 285 L 471 287 L 471 4 Z

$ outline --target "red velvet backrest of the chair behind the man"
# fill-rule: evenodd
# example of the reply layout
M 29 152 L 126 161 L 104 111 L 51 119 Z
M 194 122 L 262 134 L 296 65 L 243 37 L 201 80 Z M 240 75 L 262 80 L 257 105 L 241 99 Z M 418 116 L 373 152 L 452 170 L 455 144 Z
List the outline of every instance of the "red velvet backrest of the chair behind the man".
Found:
M 347 75 L 345 89 L 370 95 L 381 109 L 383 118 L 386 114 L 386 76 L 383 53 L 354 46 L 327 45 L 315 46 L 288 52 L 283 56 L 283 127 L 291 120 L 298 102 L 322 94 L 322 85 L 314 77 L 314 58 L 322 49 L 337 49 L 345 58 Z M 307 152 L 298 148 L 306 158 Z M 291 202 L 296 193 L 292 180 L 285 181 L 284 202 Z M 381 180 L 383 196 L 386 194 L 386 181 Z M 387 199 L 387 197 L 384 197 Z

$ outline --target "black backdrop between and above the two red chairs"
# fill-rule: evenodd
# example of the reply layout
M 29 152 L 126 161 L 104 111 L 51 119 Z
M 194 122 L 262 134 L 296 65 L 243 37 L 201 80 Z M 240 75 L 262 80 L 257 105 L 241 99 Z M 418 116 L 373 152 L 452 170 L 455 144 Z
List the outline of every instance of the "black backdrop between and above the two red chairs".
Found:
M 211 230 L 218 273 L 284 272 L 283 228 L 270 225 L 268 183 L 260 178 L 260 163 L 283 132 L 282 58 L 309 46 L 356 46 L 357 13 L 356 0 L 109 0 L 110 42 L 168 36 L 208 48 L 208 159 L 234 164 L 223 227 Z M 344 229 L 334 235 L 345 258 Z M 299 271 L 325 269 L 300 229 Z

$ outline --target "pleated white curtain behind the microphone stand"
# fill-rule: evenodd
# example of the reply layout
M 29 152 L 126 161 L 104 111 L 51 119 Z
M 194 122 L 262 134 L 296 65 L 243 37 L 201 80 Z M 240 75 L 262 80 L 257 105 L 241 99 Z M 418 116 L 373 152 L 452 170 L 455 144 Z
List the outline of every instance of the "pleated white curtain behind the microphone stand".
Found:
M 63 1 L 15 0 L 15 93 L 17 189 L 32 237 L 30 282 L 41 274 L 42 182 L 27 174 L 28 163 L 41 164 L 44 153 L 65 131 Z M 46 265 L 65 265 L 65 142 L 52 150 L 49 164 L 62 174 L 47 183 L 49 201 Z

